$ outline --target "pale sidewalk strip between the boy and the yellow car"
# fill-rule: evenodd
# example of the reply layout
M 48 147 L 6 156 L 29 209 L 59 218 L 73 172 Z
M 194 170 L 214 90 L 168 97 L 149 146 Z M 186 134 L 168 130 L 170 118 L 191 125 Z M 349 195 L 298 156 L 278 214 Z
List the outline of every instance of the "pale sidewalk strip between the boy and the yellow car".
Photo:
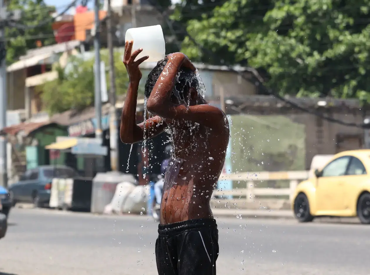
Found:
M 242 217 L 242 218 L 261 218 L 261 219 L 294 219 L 292 210 L 248 210 L 248 209 L 212 209 L 215 217 Z

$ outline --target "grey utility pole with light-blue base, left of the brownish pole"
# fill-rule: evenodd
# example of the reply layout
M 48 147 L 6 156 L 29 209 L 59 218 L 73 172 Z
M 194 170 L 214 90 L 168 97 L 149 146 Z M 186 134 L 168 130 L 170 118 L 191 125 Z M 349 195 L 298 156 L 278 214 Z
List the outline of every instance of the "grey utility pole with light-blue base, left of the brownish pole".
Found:
M 99 0 L 95 0 L 94 10 L 95 10 L 94 48 L 95 48 L 95 117 L 96 117 L 95 138 L 102 140 L 102 130 L 101 130 L 101 91 L 100 91 L 100 19 L 99 19 Z

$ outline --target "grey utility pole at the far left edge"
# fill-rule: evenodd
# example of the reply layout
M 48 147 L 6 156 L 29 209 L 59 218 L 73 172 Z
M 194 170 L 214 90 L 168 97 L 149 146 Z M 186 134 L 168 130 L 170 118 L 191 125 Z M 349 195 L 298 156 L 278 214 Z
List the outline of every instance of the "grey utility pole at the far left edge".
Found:
M 8 19 L 19 20 L 20 10 L 15 10 L 11 14 L 7 12 L 4 0 L 0 0 L 0 130 L 6 127 L 6 110 L 8 107 L 6 90 L 6 44 L 5 44 L 5 24 Z M 8 186 L 7 175 L 7 156 L 6 138 L 0 136 L 0 186 Z

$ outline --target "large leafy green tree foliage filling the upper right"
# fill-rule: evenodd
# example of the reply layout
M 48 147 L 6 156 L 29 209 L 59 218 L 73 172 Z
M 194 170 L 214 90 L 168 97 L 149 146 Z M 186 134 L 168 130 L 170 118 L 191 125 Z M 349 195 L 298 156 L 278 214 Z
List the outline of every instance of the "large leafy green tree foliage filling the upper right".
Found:
M 182 51 L 258 68 L 280 94 L 370 101 L 369 9 L 369 0 L 228 0 L 188 23 L 213 59 L 188 37 Z

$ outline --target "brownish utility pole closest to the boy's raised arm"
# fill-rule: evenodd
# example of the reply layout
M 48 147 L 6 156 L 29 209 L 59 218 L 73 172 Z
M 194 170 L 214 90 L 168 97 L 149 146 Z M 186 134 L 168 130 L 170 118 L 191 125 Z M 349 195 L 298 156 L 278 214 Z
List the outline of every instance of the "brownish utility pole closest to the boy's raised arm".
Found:
M 114 52 L 113 52 L 113 30 L 112 30 L 112 9 L 111 0 L 108 0 L 108 20 L 107 20 L 107 42 L 109 51 L 109 80 L 111 82 L 109 91 L 110 121 L 109 121 L 109 138 L 111 148 L 111 169 L 112 171 L 120 171 L 120 160 L 118 150 L 118 131 L 117 131 L 117 110 L 116 103 L 116 86 L 114 72 Z

